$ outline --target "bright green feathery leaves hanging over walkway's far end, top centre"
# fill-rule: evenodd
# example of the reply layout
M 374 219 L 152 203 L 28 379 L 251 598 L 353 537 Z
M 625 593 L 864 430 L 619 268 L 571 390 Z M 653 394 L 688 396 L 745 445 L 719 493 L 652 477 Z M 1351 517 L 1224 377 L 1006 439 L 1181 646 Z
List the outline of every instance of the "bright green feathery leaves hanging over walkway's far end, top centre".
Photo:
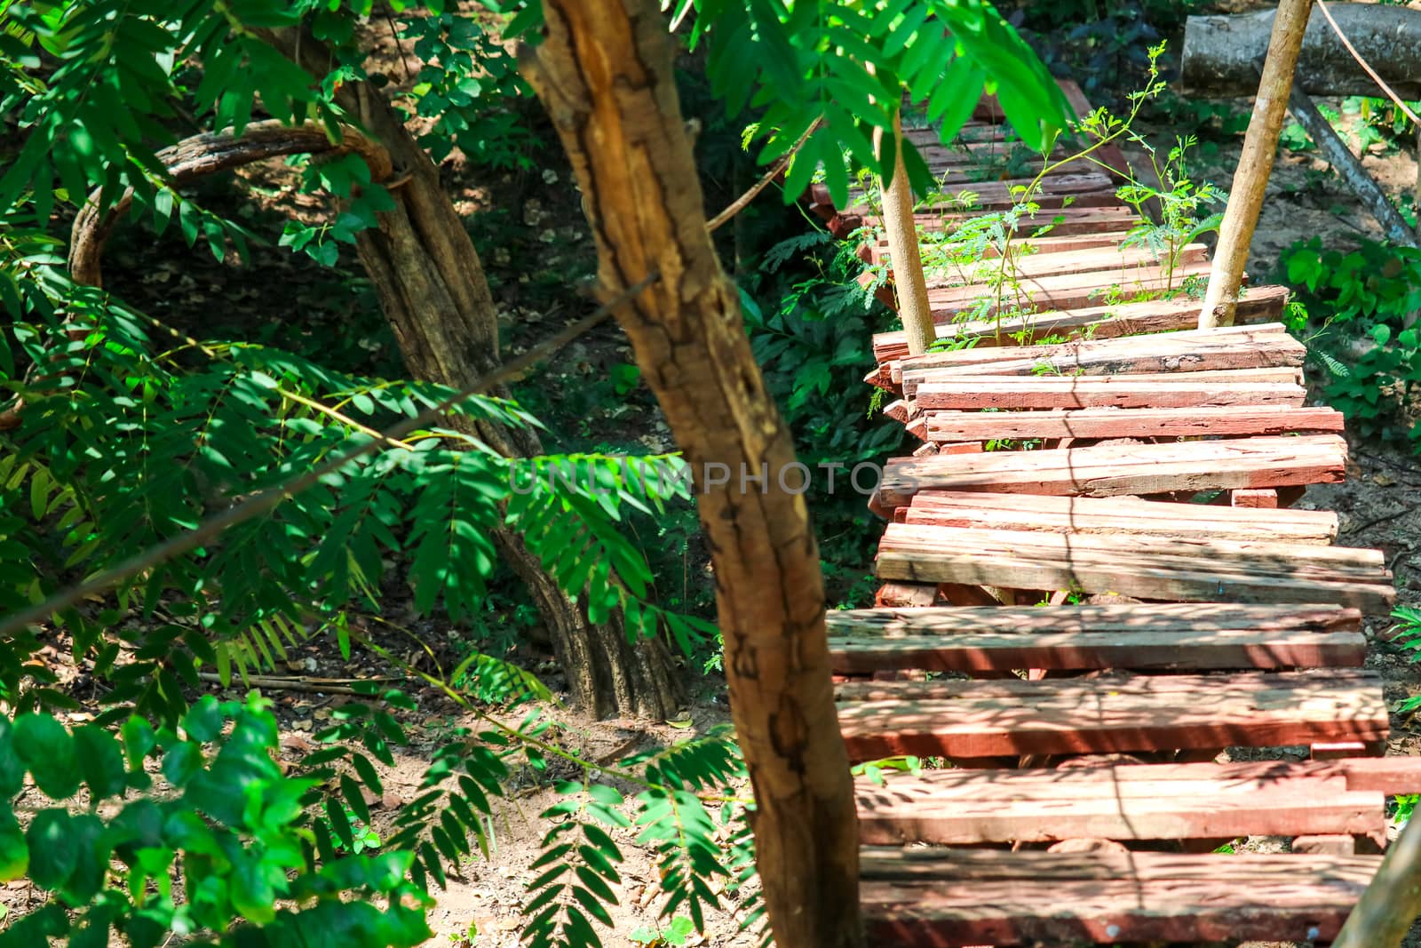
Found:
M 983 0 L 676 0 L 698 16 L 691 47 L 706 44 L 706 74 L 730 114 L 763 109 L 752 136 L 772 162 L 809 138 L 790 165 L 786 200 L 818 168 L 834 203 L 848 206 L 844 155 L 892 176 L 894 148 L 875 155 L 874 129 L 891 129 L 907 90 L 951 141 L 983 88 L 996 92 L 1022 139 L 1040 151 L 1070 107 L 1030 47 Z M 951 38 L 949 36 L 951 34 Z M 811 131 L 813 129 L 813 131 Z M 931 188 L 912 144 L 904 162 L 914 186 Z

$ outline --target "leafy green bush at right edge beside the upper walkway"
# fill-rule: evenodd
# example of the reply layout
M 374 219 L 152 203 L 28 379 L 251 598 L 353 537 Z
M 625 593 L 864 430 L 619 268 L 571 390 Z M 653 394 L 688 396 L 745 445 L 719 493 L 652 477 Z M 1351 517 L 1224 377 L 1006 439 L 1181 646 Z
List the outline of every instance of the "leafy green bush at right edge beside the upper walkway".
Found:
M 1421 441 L 1421 252 L 1371 240 L 1324 250 L 1312 237 L 1285 250 L 1282 267 L 1322 323 L 1309 343 L 1331 374 L 1327 401 L 1363 433 Z

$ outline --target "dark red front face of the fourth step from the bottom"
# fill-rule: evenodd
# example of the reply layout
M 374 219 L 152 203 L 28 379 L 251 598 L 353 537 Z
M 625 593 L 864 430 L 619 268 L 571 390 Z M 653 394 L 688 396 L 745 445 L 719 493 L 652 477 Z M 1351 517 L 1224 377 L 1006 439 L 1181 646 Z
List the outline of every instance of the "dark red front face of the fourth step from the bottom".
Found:
M 931 604 L 931 603 L 929 603 Z M 1017 632 L 828 640 L 840 675 L 904 668 L 985 674 L 1020 668 L 1084 671 L 1221 671 L 1236 668 L 1361 667 L 1361 632 L 1169 631 Z

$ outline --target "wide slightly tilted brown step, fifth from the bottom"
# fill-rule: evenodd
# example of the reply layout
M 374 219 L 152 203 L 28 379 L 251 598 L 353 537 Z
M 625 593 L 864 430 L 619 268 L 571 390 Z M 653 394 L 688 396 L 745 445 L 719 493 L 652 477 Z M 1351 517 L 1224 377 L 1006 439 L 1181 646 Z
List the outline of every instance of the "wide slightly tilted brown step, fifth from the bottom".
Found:
M 911 523 L 888 524 L 874 574 L 1185 603 L 1340 603 L 1373 614 L 1395 598 L 1380 550 Z

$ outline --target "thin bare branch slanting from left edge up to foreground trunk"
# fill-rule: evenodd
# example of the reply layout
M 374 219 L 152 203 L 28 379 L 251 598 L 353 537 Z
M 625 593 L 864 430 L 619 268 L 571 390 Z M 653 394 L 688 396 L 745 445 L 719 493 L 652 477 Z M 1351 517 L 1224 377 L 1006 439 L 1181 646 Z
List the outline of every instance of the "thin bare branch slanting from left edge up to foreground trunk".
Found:
M 358 460 L 360 458 L 364 458 L 367 455 L 375 453 L 381 448 L 387 446 L 389 442 L 399 441 L 412 431 L 416 431 L 419 428 L 423 428 L 425 425 L 429 425 L 431 422 L 438 421 L 450 408 L 465 401 L 466 398 L 477 395 L 479 392 L 487 391 L 495 385 L 499 385 L 502 382 L 509 381 L 510 378 L 517 377 L 520 372 L 533 367 L 544 357 L 551 355 L 553 352 L 563 348 L 564 345 L 567 345 L 577 337 L 583 335 L 593 327 L 605 321 L 607 317 L 610 317 L 622 304 L 625 304 L 632 297 L 638 296 L 642 290 L 645 290 L 659 279 L 661 274 L 657 271 L 647 274 L 638 283 L 627 287 L 625 290 L 614 296 L 611 300 L 597 307 L 597 310 L 593 311 L 591 314 L 583 317 L 581 320 L 573 323 L 571 325 L 567 325 L 566 328 L 563 328 L 563 331 L 534 345 L 523 355 L 519 355 L 517 358 L 504 362 L 502 367 L 493 370 L 492 372 L 477 378 L 468 388 L 458 392 L 456 395 L 452 395 L 445 401 L 439 402 L 438 405 L 419 412 L 414 418 L 406 418 L 405 421 L 401 421 L 396 425 L 391 425 L 381 433 L 379 439 L 371 439 L 364 445 L 361 445 L 360 448 L 348 451 L 344 455 L 338 455 L 327 460 L 325 463 L 311 468 L 303 475 L 298 475 L 274 488 L 269 488 L 260 493 L 256 493 L 252 497 L 243 500 L 242 503 L 227 507 L 222 513 L 203 520 L 192 530 L 179 533 L 178 536 L 173 536 L 159 543 L 158 546 L 136 553 L 135 556 L 131 556 L 118 566 L 112 566 L 107 570 L 102 570 L 101 573 L 90 577 L 88 580 L 77 586 L 71 586 L 63 593 L 51 596 L 38 605 L 33 605 L 27 610 L 10 614 L 3 621 L 0 621 L 0 638 L 14 634 L 31 623 L 41 623 L 54 613 L 72 608 L 74 605 L 84 601 L 90 596 L 105 593 L 108 591 L 109 587 L 122 583 L 124 580 L 132 578 L 134 576 L 138 576 L 139 573 L 144 573 L 145 570 L 149 570 L 158 566 L 159 563 L 165 563 L 176 556 L 188 553 L 189 550 L 210 543 L 229 527 L 233 527 L 239 523 L 244 523 L 247 520 L 270 513 L 277 506 L 280 506 L 283 500 L 287 500 L 288 497 L 293 497 L 297 493 L 301 493 L 303 490 L 315 486 L 323 478 L 338 470 L 347 463 Z

